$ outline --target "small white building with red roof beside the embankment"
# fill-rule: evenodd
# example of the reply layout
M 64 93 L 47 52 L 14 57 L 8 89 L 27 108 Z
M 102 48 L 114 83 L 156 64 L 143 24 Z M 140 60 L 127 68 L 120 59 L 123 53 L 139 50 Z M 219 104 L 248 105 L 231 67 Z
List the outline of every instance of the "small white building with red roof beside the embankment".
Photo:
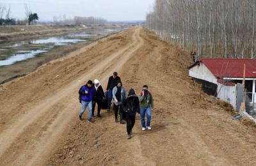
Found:
M 256 102 L 256 59 L 199 59 L 189 66 L 189 76 L 202 84 L 205 93 L 230 103 L 239 110 L 243 101 L 243 72 L 245 89 L 251 103 Z

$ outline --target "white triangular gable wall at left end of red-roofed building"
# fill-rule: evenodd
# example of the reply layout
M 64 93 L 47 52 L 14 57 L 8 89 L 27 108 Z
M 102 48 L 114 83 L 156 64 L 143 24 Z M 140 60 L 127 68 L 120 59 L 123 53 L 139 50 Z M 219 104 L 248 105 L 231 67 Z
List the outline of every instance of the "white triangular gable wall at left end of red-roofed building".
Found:
M 189 69 L 189 76 L 196 79 L 207 80 L 213 84 L 218 84 L 216 77 L 210 72 L 210 70 L 200 62 L 200 65 L 195 65 Z

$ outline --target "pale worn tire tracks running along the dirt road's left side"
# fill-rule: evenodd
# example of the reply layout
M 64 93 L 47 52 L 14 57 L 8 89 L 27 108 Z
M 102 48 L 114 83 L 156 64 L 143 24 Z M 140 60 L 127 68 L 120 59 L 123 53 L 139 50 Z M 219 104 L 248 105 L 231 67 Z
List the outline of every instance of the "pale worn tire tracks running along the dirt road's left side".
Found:
M 102 68 L 107 68 L 107 70 L 104 71 L 104 73 L 106 74 L 109 72 L 111 73 L 113 70 L 118 70 L 118 68 L 122 67 L 125 61 L 129 59 L 129 56 L 132 54 L 132 52 L 136 50 L 138 47 L 140 47 L 140 40 L 138 40 L 139 30 L 140 29 L 136 29 L 136 31 L 134 32 L 132 36 L 133 41 L 130 45 L 128 45 L 124 49 L 119 50 L 118 52 L 115 52 L 115 54 L 109 56 L 108 59 L 103 59 L 99 64 L 97 64 L 97 66 L 93 66 L 91 70 L 86 72 L 86 74 L 82 75 L 78 79 L 83 80 L 83 78 L 91 78 L 93 77 L 93 75 L 101 73 Z M 117 61 L 119 62 L 117 63 Z M 109 67 L 113 66 L 112 64 L 117 65 L 115 65 L 115 68 Z M 102 81 L 107 81 L 108 77 L 109 75 L 106 74 L 104 77 L 102 77 Z M 49 116 L 49 114 L 51 114 L 51 112 L 54 111 L 54 109 L 52 109 L 54 105 L 60 105 L 60 102 L 63 100 L 63 98 L 68 98 L 68 96 L 70 96 L 70 93 L 76 93 L 74 89 L 77 89 L 77 87 L 79 87 L 79 84 L 80 82 L 73 81 L 67 86 L 64 86 L 62 88 L 62 91 L 50 96 L 49 98 L 47 98 L 47 100 L 44 100 L 39 105 L 36 105 L 36 107 L 33 107 L 31 110 L 28 111 L 28 113 L 24 117 L 21 117 L 19 121 L 10 126 L 10 128 L 8 128 L 7 130 L 4 130 L 4 132 L 1 133 L 0 143 L 2 144 L 3 142 L 5 142 L 5 144 L 2 144 L 3 146 L 1 146 L 0 155 L 3 156 L 4 153 L 4 156 L 8 156 L 8 153 L 6 153 L 6 149 L 8 149 L 8 147 L 10 147 L 11 145 L 15 144 L 15 140 L 19 139 L 19 137 L 23 137 L 22 133 L 24 132 L 24 130 L 26 130 L 26 128 L 29 128 L 29 125 L 33 126 L 33 124 L 35 123 L 40 123 L 40 121 L 38 122 L 38 119 L 44 119 L 42 117 L 43 114 L 48 114 Z M 73 101 L 72 98 L 68 98 L 68 100 L 65 100 L 65 102 L 67 103 L 70 103 L 70 101 L 72 101 L 71 103 L 77 103 L 77 101 Z M 72 118 L 70 117 L 73 117 L 74 114 L 77 114 L 70 110 L 79 109 L 79 107 L 77 107 L 77 105 L 74 104 L 65 105 L 65 107 L 67 108 L 62 109 L 60 112 L 58 112 L 58 117 L 56 117 L 51 122 L 51 124 L 46 123 L 48 125 L 48 127 L 46 127 L 47 130 L 42 134 L 42 137 L 40 137 L 39 142 L 36 142 L 35 144 L 30 144 L 30 147 L 32 147 L 33 150 L 31 150 L 31 148 L 26 147 L 26 151 L 22 152 L 22 155 L 20 155 L 19 160 L 17 160 L 16 163 L 33 164 L 38 158 L 38 156 L 41 155 L 41 153 L 45 151 L 45 149 L 47 149 L 47 146 L 52 146 L 51 143 L 54 142 L 53 140 L 58 139 L 58 135 L 61 133 L 61 131 L 63 131 L 65 126 L 67 126 L 67 124 L 72 120 Z M 65 119 L 65 121 L 63 121 L 63 119 Z M 43 125 L 38 127 L 44 128 L 45 126 Z M 15 137 L 13 137 L 13 135 L 15 135 Z M 45 145 L 46 143 L 47 145 Z M 8 149 L 8 151 L 12 153 L 12 149 Z M 28 158 L 30 161 L 28 160 Z M 13 163 L 15 163 L 15 161 L 13 161 Z

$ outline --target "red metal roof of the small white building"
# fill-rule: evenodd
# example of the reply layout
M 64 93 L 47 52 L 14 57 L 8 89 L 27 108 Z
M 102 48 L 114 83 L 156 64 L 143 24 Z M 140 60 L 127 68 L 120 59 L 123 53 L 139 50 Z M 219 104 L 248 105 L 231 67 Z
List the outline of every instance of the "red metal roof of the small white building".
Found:
M 204 63 L 216 78 L 243 78 L 244 64 L 245 77 L 256 78 L 256 59 L 202 58 L 192 66 L 200 62 Z

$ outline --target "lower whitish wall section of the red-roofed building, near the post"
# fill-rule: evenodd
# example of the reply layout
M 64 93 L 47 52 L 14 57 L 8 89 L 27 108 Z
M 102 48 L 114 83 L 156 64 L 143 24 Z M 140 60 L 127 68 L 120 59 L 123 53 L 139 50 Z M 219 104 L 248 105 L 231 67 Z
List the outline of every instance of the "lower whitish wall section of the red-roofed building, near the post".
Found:
M 224 86 L 218 83 L 218 98 L 230 103 L 236 110 L 236 86 Z

